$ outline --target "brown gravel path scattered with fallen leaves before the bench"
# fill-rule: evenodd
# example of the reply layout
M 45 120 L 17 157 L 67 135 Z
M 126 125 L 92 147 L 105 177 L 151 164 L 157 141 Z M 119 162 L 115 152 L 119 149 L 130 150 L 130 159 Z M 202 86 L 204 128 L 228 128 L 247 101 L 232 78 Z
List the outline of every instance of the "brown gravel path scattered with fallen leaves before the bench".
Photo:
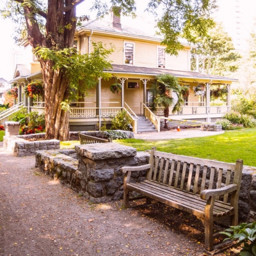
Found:
M 34 166 L 34 156 L 0 148 L 0 255 L 207 255 L 194 216 L 163 204 L 90 204 Z

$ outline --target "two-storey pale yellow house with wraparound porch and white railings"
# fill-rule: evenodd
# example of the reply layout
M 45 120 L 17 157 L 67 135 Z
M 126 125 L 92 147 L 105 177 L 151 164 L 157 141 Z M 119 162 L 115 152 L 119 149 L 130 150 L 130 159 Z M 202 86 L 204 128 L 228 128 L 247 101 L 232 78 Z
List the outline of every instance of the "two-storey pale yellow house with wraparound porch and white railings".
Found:
M 105 19 L 89 20 L 76 31 L 75 45 L 81 54 L 92 52 L 92 42 L 102 42 L 106 47 L 112 44 L 115 51 L 110 56 L 113 68 L 106 70 L 112 78 L 109 81 L 99 78 L 96 88 L 91 89 L 88 95 L 80 95 L 79 101 L 72 102 L 70 131 L 95 130 L 103 120 L 109 121 L 121 109 L 126 109 L 131 115 L 134 132 L 160 131 L 163 108 L 159 106 L 154 113 L 148 108 L 150 85 L 159 74 L 171 74 L 179 79 L 180 85 L 189 87 L 189 95 L 181 111 L 172 113 L 170 107 L 170 120 L 214 122 L 230 110 L 230 84 L 236 79 L 191 72 L 189 44 L 183 42 L 184 49 L 177 56 L 171 56 L 164 51 L 165 46 L 161 45 L 161 38 L 154 35 L 154 29 L 143 27 L 141 20 L 135 21 L 135 27 L 125 26 L 121 19 L 111 15 Z M 30 74 L 26 76 L 20 76 L 21 66 L 15 70 L 13 81 L 20 85 L 19 104 L 23 101 L 26 105 L 26 97 L 21 97 L 22 83 L 40 77 L 38 64 L 36 59 L 31 60 Z M 114 83 L 122 85 L 120 94 L 110 91 Z M 212 86 L 220 84 L 227 88 L 227 100 L 217 106 L 210 101 L 210 93 Z M 198 87 L 204 88 L 199 96 L 195 93 Z M 44 102 L 29 102 L 28 105 L 33 110 L 44 109 Z M 145 125 L 143 118 L 152 122 L 151 128 Z

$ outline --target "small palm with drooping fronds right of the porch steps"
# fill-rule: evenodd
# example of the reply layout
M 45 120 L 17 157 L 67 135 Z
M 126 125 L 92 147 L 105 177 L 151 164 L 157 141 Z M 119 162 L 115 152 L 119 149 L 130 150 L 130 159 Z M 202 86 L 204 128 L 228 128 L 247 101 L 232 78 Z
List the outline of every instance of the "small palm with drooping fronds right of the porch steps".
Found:
M 182 86 L 179 85 L 176 77 L 169 74 L 163 74 L 157 76 L 157 79 L 150 88 L 152 93 L 151 102 L 149 102 L 152 110 L 156 107 L 164 107 L 164 117 L 169 116 L 169 107 L 173 105 L 172 113 L 180 111 L 184 100 L 182 99 Z M 177 95 L 177 99 L 173 97 L 173 94 Z M 164 127 L 167 127 L 166 119 L 164 120 Z

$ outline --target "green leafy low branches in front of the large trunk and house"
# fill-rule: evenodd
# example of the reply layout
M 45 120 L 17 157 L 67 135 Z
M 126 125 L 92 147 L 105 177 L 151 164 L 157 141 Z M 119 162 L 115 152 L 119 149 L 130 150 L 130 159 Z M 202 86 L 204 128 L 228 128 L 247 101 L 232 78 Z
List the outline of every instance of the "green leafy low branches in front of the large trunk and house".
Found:
M 108 56 L 113 52 L 113 47 L 109 49 L 101 42 L 93 44 L 93 52 L 90 54 L 79 54 L 74 48 L 63 50 L 52 50 L 46 47 L 37 47 L 35 54 L 39 59 L 52 60 L 54 70 L 62 70 L 70 81 L 71 99 L 77 97 L 77 89 L 86 94 L 88 89 L 93 88 L 99 77 L 109 79 L 111 74 L 103 72 L 111 69 Z

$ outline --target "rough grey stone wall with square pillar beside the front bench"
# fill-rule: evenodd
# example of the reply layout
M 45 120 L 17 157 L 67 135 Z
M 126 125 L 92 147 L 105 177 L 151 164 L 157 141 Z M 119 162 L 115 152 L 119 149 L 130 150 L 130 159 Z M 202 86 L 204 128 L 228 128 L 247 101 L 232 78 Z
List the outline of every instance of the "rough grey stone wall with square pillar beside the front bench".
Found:
M 77 159 L 76 159 L 76 158 Z M 36 167 L 60 179 L 62 184 L 93 203 L 122 198 L 122 166 L 147 164 L 150 154 L 135 148 L 102 143 L 76 146 L 75 150 L 40 150 Z M 132 173 L 134 182 L 144 179 L 145 171 Z M 244 166 L 239 196 L 239 222 L 256 221 L 256 168 Z

